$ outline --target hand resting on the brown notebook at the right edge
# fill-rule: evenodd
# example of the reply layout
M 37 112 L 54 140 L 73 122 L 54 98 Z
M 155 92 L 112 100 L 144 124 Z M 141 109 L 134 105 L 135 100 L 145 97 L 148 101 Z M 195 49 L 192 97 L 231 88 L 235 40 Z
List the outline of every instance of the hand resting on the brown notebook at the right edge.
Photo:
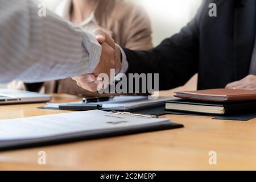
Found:
M 226 89 L 256 90 L 256 76 L 249 75 L 240 81 L 232 82 L 226 85 Z

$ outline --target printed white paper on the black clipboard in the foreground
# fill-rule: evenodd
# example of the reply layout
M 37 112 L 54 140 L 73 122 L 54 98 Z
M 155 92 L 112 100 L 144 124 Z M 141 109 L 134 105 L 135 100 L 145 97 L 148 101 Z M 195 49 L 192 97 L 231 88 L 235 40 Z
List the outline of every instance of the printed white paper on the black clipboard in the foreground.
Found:
M 0 120 L 0 141 L 54 137 L 83 131 L 106 130 L 170 122 L 170 119 L 138 118 L 101 110 Z

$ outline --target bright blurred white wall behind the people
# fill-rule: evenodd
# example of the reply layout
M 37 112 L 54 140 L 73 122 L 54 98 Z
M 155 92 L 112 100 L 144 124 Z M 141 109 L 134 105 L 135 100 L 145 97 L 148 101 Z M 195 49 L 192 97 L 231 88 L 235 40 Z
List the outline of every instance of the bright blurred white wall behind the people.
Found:
M 54 10 L 61 0 L 43 0 Z M 108 0 L 104 0 L 108 1 Z M 158 45 L 170 37 L 193 18 L 201 0 L 126 0 L 143 5 L 152 22 L 153 42 Z

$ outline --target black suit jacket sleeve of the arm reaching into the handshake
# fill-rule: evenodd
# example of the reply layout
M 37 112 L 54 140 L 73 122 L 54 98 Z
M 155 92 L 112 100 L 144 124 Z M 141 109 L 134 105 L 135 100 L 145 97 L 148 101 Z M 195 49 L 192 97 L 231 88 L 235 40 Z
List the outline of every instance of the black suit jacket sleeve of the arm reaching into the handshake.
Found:
M 164 40 L 151 51 L 123 48 L 129 63 L 127 74 L 159 73 L 160 90 L 184 85 L 198 71 L 199 26 L 203 7 L 207 7 L 205 3 L 179 34 Z

